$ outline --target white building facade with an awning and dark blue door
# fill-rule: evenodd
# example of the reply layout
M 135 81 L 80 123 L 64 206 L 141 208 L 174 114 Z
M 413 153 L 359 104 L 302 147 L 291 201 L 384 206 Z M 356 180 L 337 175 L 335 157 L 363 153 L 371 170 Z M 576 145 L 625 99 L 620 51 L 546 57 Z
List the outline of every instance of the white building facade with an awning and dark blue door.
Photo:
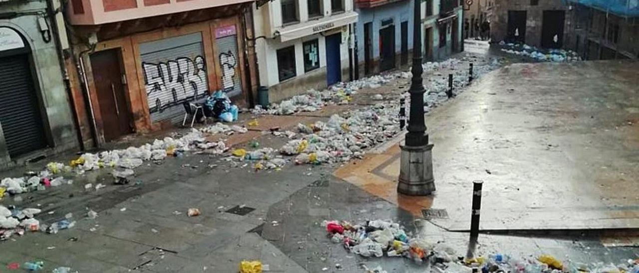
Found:
M 270 101 L 348 80 L 351 0 L 273 0 L 254 5 L 259 84 Z

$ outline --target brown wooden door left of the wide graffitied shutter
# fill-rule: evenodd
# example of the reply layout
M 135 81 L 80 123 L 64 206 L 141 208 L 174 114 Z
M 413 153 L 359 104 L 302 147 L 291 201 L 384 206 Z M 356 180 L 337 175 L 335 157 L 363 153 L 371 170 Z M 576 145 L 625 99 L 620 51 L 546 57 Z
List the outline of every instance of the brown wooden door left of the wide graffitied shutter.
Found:
M 93 83 L 102 117 L 104 140 L 114 140 L 131 133 L 130 115 L 122 83 L 120 56 L 116 49 L 91 54 Z

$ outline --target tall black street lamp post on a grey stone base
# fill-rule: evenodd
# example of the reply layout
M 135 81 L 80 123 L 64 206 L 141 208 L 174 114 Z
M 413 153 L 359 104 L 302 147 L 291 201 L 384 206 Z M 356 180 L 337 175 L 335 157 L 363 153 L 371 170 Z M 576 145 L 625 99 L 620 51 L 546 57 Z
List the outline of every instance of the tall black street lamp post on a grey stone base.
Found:
M 422 85 L 421 0 L 413 10 L 413 78 L 410 89 L 410 118 L 401 158 L 397 192 L 404 195 L 430 195 L 435 191 L 433 179 L 433 144 L 428 144 L 424 122 L 424 85 Z

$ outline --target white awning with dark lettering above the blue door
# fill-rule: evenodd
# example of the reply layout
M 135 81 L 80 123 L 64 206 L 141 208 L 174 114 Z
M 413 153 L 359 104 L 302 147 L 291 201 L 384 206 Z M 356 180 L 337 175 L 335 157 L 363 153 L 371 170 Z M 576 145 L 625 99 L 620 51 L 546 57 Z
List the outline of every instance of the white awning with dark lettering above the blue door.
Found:
M 294 24 L 282 27 L 279 31 L 280 41 L 290 41 L 311 34 L 329 31 L 337 27 L 346 26 L 357 22 L 357 12 L 348 11 L 339 15 L 333 15 L 319 20 L 312 20 L 302 24 Z

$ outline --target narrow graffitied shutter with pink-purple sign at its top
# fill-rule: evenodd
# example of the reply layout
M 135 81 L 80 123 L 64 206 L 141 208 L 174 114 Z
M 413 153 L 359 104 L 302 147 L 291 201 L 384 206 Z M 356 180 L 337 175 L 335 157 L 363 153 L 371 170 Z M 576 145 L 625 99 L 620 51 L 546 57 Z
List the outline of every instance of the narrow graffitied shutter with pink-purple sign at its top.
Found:
M 222 91 L 229 97 L 242 94 L 240 82 L 240 58 L 235 26 L 215 29 L 215 42 L 219 52 Z

